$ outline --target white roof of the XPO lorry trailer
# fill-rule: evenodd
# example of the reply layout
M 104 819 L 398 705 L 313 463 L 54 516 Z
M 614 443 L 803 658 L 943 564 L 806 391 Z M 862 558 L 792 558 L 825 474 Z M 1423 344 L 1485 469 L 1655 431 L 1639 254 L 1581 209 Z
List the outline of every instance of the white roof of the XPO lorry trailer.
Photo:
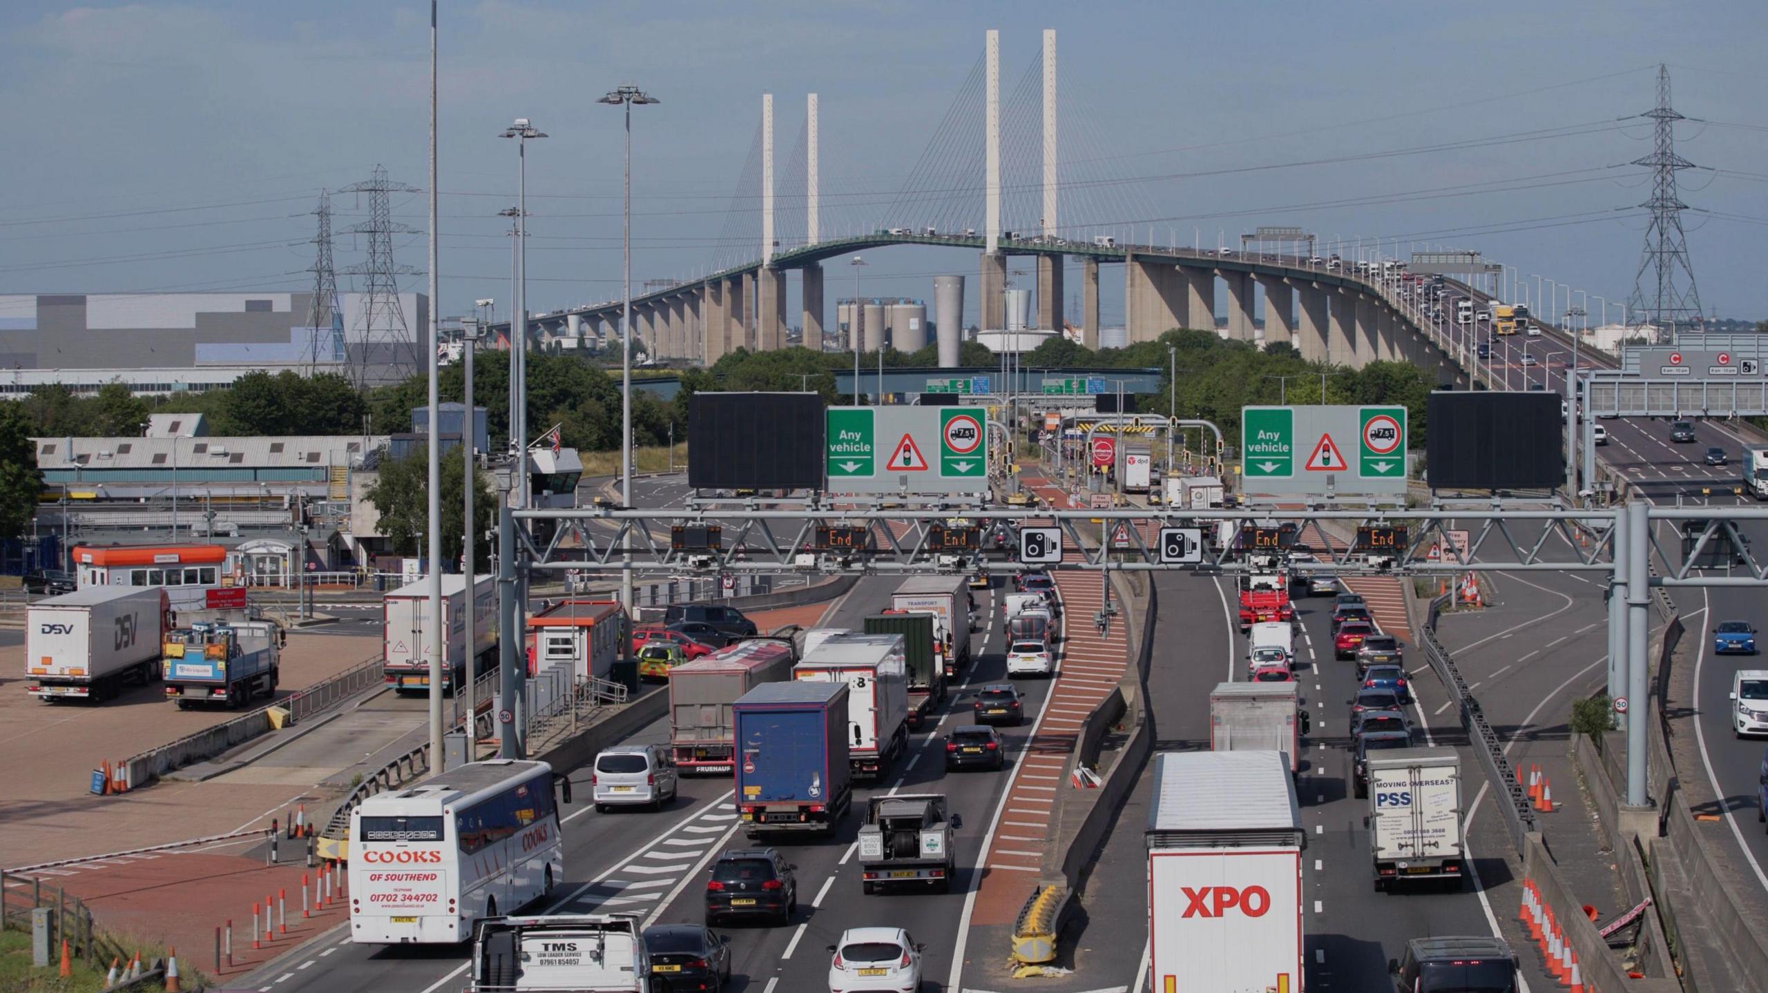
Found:
M 1147 830 L 1301 830 L 1280 751 L 1174 751 L 1155 756 Z

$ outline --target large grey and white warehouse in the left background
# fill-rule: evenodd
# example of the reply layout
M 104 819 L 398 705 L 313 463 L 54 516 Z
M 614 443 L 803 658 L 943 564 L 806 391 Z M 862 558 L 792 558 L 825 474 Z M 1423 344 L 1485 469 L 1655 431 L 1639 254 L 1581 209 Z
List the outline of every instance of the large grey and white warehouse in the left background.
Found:
M 430 299 L 400 293 L 408 332 L 385 316 L 368 327 L 368 295 L 339 293 L 339 320 L 320 315 L 313 293 L 39 293 L 0 295 L 0 396 L 62 383 L 95 392 L 108 382 L 136 394 L 200 392 L 253 371 L 293 369 L 364 382 L 403 378 L 428 352 L 414 345 L 430 320 Z

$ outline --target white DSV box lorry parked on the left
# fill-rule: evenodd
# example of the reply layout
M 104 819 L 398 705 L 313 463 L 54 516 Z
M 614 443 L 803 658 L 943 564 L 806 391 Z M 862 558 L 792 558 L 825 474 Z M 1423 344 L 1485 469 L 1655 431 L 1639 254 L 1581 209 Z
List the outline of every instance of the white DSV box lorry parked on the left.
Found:
M 171 604 L 164 587 L 81 587 L 25 611 L 27 693 L 103 703 L 159 678 Z

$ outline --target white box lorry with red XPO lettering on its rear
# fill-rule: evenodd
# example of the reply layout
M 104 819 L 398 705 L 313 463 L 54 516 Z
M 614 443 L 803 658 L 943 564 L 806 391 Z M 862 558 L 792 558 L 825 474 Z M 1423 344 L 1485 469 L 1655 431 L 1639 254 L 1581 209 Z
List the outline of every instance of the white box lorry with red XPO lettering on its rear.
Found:
M 1278 751 L 1155 756 L 1147 830 L 1155 989 L 1301 989 L 1307 834 Z

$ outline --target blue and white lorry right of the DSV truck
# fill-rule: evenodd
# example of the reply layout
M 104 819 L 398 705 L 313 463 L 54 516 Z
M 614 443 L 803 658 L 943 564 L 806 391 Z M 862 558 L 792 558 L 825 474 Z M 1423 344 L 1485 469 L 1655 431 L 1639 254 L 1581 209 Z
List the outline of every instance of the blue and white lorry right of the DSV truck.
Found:
M 219 703 L 228 710 L 253 696 L 276 696 L 281 627 L 271 620 L 198 622 L 166 633 L 166 700 L 179 710 Z

